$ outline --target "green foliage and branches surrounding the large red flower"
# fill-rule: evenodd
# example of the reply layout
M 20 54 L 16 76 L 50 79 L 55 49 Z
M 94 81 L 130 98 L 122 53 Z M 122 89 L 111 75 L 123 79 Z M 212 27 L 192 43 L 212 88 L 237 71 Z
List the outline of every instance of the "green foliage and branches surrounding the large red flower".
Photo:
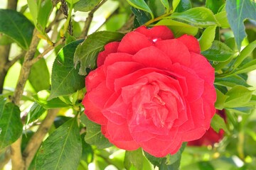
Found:
M 1 1 L 0 169 L 256 169 L 255 13 L 254 0 Z M 163 158 L 124 151 L 83 113 L 98 53 L 142 25 L 198 39 L 227 117 L 211 123 L 220 143 Z

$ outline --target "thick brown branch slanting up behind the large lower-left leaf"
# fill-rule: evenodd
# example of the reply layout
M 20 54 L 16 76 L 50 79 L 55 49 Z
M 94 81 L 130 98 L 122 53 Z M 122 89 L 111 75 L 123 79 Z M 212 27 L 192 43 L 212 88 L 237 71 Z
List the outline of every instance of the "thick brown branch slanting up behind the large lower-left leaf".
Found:
M 28 169 L 28 167 L 30 166 L 33 157 L 35 157 L 38 148 L 43 142 L 43 138 L 46 136 L 50 126 L 53 124 L 54 118 L 56 117 L 58 111 L 59 109 L 48 110 L 46 118 L 43 120 L 36 133 L 31 137 L 31 140 L 29 140 L 28 145 L 26 146 L 26 149 L 23 151 L 22 154 L 25 164 L 24 169 Z

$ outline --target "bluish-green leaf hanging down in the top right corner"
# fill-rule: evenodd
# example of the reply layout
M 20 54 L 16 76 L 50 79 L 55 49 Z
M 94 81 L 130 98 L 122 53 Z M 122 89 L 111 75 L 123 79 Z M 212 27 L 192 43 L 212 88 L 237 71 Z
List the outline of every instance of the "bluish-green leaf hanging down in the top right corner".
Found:
M 234 32 L 235 42 L 237 42 L 238 50 L 240 50 L 242 40 L 246 36 L 243 22 L 247 18 L 256 21 L 256 3 L 252 0 L 227 0 L 225 9 L 230 28 Z

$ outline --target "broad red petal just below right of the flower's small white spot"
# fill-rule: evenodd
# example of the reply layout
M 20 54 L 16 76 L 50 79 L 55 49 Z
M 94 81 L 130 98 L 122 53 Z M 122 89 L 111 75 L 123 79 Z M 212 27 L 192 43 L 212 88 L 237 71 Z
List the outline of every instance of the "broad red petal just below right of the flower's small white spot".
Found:
M 185 66 L 189 66 L 191 63 L 188 47 L 176 39 L 158 41 L 156 47 L 168 55 L 173 63 L 178 62 Z

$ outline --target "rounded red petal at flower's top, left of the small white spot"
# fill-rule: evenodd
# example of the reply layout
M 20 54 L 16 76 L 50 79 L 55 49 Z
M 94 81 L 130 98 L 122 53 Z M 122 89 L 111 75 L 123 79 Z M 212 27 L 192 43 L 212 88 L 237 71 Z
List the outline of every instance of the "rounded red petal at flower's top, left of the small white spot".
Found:
M 122 38 L 117 52 L 126 52 L 130 55 L 134 55 L 139 50 L 142 50 L 144 47 L 149 47 L 153 45 L 153 42 L 146 38 L 145 35 L 137 32 L 130 32 L 127 35 L 124 35 Z

